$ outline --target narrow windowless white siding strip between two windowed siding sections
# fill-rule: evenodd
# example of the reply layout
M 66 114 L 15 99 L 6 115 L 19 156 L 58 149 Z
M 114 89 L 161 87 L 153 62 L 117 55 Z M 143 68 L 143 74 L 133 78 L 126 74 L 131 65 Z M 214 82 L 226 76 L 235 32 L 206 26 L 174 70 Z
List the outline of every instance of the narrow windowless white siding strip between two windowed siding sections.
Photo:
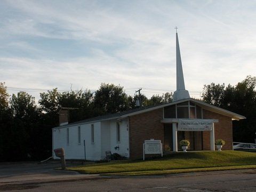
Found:
M 106 157 L 110 148 L 110 121 L 101 122 L 101 158 Z

